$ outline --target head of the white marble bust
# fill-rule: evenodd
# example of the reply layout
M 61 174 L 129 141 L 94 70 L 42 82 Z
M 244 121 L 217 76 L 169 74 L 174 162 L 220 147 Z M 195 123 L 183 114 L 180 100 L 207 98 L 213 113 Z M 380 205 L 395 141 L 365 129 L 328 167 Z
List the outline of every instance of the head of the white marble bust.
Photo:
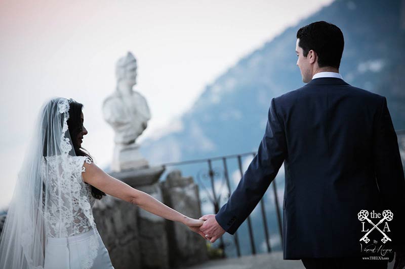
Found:
M 127 56 L 120 58 L 115 65 L 115 75 L 118 82 L 128 83 L 130 86 L 136 84 L 137 63 L 134 55 L 128 51 Z

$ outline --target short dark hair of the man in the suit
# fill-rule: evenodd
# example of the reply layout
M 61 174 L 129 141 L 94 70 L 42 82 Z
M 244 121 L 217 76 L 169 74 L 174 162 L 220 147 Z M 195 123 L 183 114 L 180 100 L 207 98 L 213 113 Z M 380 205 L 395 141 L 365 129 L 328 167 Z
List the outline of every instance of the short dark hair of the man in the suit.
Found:
M 301 27 L 297 38 L 304 57 L 312 49 L 318 55 L 319 67 L 339 68 L 345 43 L 339 27 L 325 21 L 313 22 Z

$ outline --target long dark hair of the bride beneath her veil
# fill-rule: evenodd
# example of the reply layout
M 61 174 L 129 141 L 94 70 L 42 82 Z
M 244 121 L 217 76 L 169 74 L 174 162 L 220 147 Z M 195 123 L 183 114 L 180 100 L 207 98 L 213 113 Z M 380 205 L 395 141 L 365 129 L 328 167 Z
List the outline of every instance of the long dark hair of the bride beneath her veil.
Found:
M 90 155 L 89 151 L 85 148 L 80 147 L 77 144 L 77 135 L 83 131 L 82 125 L 82 109 L 83 104 L 76 102 L 75 100 L 70 99 L 69 101 L 69 119 L 67 120 L 67 127 L 69 129 L 70 139 L 73 144 L 74 153 L 76 156 L 87 156 L 93 162 L 93 157 Z M 92 186 L 92 195 L 96 199 L 101 199 L 105 193 L 96 187 Z

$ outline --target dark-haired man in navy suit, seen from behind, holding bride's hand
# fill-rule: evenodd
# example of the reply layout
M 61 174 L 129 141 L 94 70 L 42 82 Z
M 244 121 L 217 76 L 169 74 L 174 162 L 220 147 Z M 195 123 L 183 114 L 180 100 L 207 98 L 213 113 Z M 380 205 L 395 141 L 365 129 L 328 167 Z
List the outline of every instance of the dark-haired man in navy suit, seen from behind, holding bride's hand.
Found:
M 234 234 L 284 162 L 284 259 L 306 268 L 387 268 L 395 251 L 395 267 L 403 267 L 405 181 L 387 100 L 342 79 L 343 46 L 336 25 L 298 30 L 297 66 L 307 84 L 271 99 L 257 155 L 219 212 L 200 218 L 201 235 L 215 242 Z M 368 219 L 360 221 L 360 210 Z M 377 227 L 387 244 L 368 221 L 377 225 L 383 210 L 393 213 Z M 370 230 L 371 242 L 359 241 Z

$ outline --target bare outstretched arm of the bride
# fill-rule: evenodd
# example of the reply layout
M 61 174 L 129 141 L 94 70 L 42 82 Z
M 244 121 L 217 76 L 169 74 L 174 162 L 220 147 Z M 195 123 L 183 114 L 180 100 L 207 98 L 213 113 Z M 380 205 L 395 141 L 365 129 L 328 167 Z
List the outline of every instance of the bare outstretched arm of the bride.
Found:
M 203 221 L 184 216 L 149 194 L 134 189 L 128 184 L 111 177 L 94 163 L 88 164 L 85 162 L 84 167 L 86 168 L 86 172 L 82 173 L 83 180 L 109 195 L 136 204 L 159 217 L 180 222 L 189 227 L 201 226 L 203 224 Z

